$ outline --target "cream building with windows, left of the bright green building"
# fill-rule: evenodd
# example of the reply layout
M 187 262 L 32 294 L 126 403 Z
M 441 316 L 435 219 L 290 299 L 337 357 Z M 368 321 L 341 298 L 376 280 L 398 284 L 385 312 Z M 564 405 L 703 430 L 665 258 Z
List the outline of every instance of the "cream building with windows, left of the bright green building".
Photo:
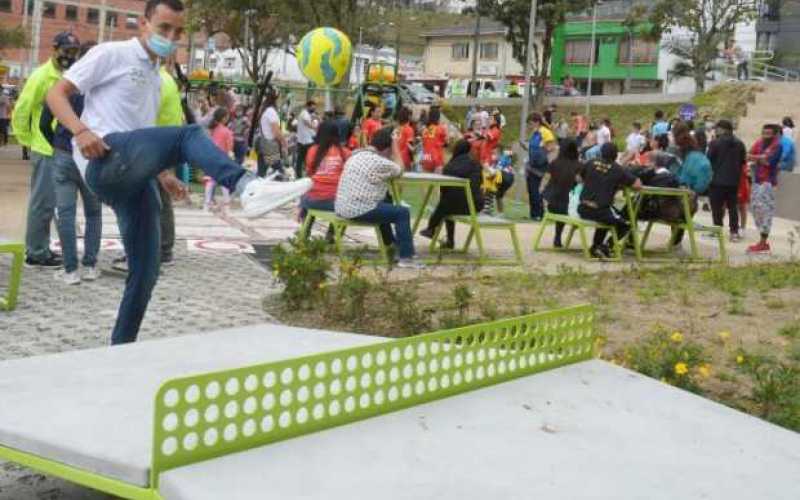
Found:
M 502 24 L 481 19 L 480 34 L 477 37 L 479 79 L 523 78 L 522 65 L 514 59 L 511 44 L 506 40 L 507 33 L 508 28 Z M 423 55 L 425 74 L 451 79 L 472 77 L 473 57 L 476 52 L 475 24 L 439 28 L 421 36 L 425 39 Z

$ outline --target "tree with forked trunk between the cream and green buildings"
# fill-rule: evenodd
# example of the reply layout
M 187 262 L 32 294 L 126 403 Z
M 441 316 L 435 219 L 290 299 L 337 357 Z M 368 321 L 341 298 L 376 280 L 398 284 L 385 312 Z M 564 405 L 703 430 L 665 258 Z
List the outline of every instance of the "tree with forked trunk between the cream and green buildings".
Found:
M 566 22 L 567 14 L 581 12 L 592 5 L 591 0 L 538 0 L 536 9 L 537 25 L 544 28 L 541 47 L 534 44 L 531 60 L 536 85 L 535 103 L 544 97 L 544 87 L 550 76 L 550 57 L 553 52 L 553 33 Z M 508 28 L 506 39 L 511 43 L 512 53 L 523 67 L 528 52 L 528 32 L 530 31 L 530 0 L 478 0 L 478 10 L 501 22 Z M 541 64 L 538 64 L 541 51 Z

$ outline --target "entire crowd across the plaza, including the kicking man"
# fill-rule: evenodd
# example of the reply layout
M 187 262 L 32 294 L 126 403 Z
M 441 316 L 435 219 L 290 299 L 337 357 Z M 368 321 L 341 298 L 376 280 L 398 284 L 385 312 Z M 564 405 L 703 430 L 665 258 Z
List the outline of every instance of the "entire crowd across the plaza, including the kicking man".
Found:
M 32 163 L 27 266 L 60 268 L 56 276 L 67 284 L 98 279 L 101 204 L 116 214 L 125 250 L 117 264 L 127 280 L 112 343 L 136 339 L 160 268 L 173 259 L 172 200 L 187 195 L 174 173 L 181 165 L 205 172 L 207 210 L 215 208 L 216 188 L 222 191 L 221 210 L 238 197 L 248 217 L 299 199 L 301 216 L 328 210 L 378 224 L 397 265 L 405 268 L 423 265 L 416 257 L 409 208 L 389 195 L 390 182 L 404 172 L 468 179 L 475 207 L 502 213 L 517 172 L 513 154 L 501 146 L 506 119 L 499 109 L 470 109 L 460 133 L 448 128 L 436 106 L 414 116 L 408 108 L 387 114 L 380 103 L 368 103 L 363 119 L 354 121 L 340 108 L 320 114 L 308 100 L 295 116 L 272 87 L 257 117 L 224 89 L 193 109 L 171 74 L 184 24 L 180 0 L 148 0 L 137 38 L 95 46 L 60 33 L 52 57 L 30 75 L 11 113 L 16 138 L 30 150 Z M 0 112 L 2 106 L 10 103 L 0 102 Z M 251 124 L 257 129 L 251 131 Z M 708 196 L 716 225 L 727 211 L 732 241 L 741 239 L 740 216 L 743 227 L 749 204 L 761 235 L 749 251 L 769 251 L 778 172 L 794 167 L 790 118 L 782 126 L 765 125 L 749 151 L 729 121 L 713 123 L 709 117 L 698 126 L 667 122 L 657 112 L 650 127 L 632 124 L 622 152 L 608 119 L 594 124 L 578 113 L 566 119 L 550 106 L 532 113 L 527 124 L 522 147 L 533 220 L 549 210 L 615 226 L 622 238 L 629 223 L 614 206 L 620 188 L 686 186 Z M 250 150 L 255 172 L 245 165 Z M 80 261 L 79 194 L 86 218 Z M 433 238 L 444 225 L 442 245 L 453 248 L 455 227 L 448 216 L 471 208 L 463 190 L 443 188 L 420 235 Z M 667 203 L 645 209 L 643 214 L 649 210 L 661 219 L 682 215 L 681 207 Z M 50 249 L 53 217 L 63 254 Z M 562 231 L 557 226 L 556 246 Z M 681 237 L 675 235 L 676 248 Z M 610 255 L 604 230 L 596 232 L 591 252 Z

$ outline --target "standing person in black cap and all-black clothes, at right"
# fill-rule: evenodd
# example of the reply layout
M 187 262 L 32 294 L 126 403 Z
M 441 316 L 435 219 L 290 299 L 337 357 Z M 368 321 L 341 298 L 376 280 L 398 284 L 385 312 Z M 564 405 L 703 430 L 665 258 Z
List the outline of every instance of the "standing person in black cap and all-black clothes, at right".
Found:
M 729 120 L 717 122 L 715 135 L 716 139 L 708 146 L 708 159 L 712 171 L 711 187 L 708 189 L 711 216 L 714 225 L 722 227 L 725 207 L 728 208 L 730 239 L 735 243 L 741 241 L 737 194 L 742 169 L 747 162 L 747 148 L 733 135 L 733 124 Z

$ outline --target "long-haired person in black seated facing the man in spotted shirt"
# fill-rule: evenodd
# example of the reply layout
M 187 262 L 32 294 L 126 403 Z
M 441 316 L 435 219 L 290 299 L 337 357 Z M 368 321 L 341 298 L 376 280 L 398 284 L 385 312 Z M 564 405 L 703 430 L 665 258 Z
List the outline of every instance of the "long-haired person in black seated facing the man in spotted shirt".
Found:
M 483 193 L 481 192 L 481 183 L 483 181 L 482 169 L 474 156 L 472 145 L 469 141 L 462 139 L 456 143 L 453 147 L 453 158 L 445 165 L 443 173 L 444 175 L 469 179 L 472 199 L 475 202 L 475 210 L 483 210 L 484 201 Z M 428 220 L 428 227 L 420 231 L 419 234 L 426 238 L 433 238 L 433 233 L 445 217 L 448 215 L 467 214 L 469 214 L 469 205 L 467 205 L 467 196 L 464 190 L 456 187 L 442 188 L 439 204 Z M 452 221 L 445 221 L 445 229 L 447 231 L 447 239 L 445 240 L 444 247 L 452 249 L 455 246 L 455 223 Z

